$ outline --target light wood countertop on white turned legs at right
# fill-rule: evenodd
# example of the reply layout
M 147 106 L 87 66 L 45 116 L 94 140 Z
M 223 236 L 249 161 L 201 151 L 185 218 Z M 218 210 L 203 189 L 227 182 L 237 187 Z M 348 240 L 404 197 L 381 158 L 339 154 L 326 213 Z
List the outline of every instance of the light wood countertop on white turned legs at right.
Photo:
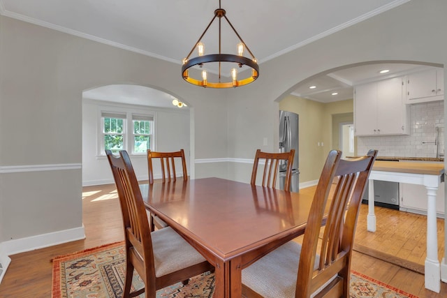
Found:
M 374 171 L 401 172 L 411 174 L 440 175 L 444 173 L 444 163 L 411 163 L 405 161 L 374 161 Z

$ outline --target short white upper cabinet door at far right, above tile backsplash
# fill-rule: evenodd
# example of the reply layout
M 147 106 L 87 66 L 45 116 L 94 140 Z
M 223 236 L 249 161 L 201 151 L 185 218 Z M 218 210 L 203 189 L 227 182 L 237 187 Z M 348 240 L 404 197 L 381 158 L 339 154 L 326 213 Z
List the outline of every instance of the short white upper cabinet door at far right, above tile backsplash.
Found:
M 436 96 L 436 73 L 436 69 L 431 69 L 408 75 L 406 80 L 406 96 L 408 100 Z

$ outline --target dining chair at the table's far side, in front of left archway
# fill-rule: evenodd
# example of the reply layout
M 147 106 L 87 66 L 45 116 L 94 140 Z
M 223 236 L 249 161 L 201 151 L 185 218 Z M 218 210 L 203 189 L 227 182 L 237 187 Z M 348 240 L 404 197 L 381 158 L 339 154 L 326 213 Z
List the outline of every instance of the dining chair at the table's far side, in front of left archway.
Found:
M 180 160 L 182 163 L 182 175 L 183 180 L 188 180 L 188 172 L 186 171 L 186 158 L 184 157 L 184 150 L 175 152 L 157 152 L 147 150 L 147 170 L 149 172 L 149 184 L 154 184 L 154 159 L 159 159 L 161 165 L 161 181 L 164 183 L 166 181 L 170 182 L 177 180 L 177 172 L 175 171 L 175 161 Z M 155 228 L 162 229 L 168 226 L 167 223 L 162 221 L 158 216 L 152 214 L 150 218 L 151 231 Z

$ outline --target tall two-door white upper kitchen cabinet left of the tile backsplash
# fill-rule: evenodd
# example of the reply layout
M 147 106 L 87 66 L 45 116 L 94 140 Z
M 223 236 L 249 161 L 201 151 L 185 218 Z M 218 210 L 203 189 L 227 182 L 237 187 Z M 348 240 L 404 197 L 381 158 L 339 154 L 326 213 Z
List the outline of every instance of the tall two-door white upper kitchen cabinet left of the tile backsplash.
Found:
M 408 135 L 404 77 L 360 84 L 354 91 L 357 136 Z

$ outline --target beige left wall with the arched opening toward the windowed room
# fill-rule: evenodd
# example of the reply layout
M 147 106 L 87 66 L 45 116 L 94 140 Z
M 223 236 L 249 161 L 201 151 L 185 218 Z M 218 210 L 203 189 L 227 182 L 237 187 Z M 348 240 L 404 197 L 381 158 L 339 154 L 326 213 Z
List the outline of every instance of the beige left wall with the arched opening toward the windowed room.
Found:
M 173 94 L 199 115 L 191 159 L 227 156 L 225 91 L 186 84 L 179 64 L 10 17 L 0 28 L 0 244 L 82 229 L 84 90 L 129 83 Z

